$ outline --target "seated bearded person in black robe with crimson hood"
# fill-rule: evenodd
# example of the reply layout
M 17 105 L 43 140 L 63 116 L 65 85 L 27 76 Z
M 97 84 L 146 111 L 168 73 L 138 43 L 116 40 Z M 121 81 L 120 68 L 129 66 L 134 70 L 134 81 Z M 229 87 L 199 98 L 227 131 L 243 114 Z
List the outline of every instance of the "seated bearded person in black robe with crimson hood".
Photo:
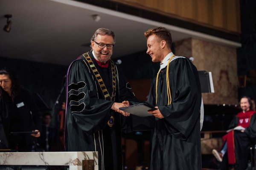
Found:
M 256 144 L 256 111 L 251 110 L 251 99 L 243 96 L 240 107 L 242 111 L 229 125 L 232 130 L 223 136 L 221 151 L 212 150 L 216 159 L 221 161 L 221 170 L 227 170 L 229 167 L 235 170 L 246 169 L 250 160 L 250 147 Z M 244 128 L 237 128 L 239 126 Z

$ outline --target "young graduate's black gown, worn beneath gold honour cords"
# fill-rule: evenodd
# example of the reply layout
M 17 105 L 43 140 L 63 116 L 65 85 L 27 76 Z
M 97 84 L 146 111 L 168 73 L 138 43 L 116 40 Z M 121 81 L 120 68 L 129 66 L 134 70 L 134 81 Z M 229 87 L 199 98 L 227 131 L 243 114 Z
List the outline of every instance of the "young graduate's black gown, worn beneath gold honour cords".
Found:
M 155 118 L 150 170 L 201 170 L 200 107 L 198 71 L 186 57 L 169 64 L 172 103 L 167 105 L 166 68 L 153 79 L 148 103 L 158 106 L 163 119 Z

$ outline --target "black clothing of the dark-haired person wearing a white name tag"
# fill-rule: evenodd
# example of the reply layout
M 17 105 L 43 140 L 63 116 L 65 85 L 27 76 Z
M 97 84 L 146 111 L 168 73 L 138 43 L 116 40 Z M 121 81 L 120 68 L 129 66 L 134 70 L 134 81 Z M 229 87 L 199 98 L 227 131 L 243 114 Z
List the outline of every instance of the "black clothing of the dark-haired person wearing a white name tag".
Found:
M 5 93 L 5 92 L 4 92 Z M 18 104 L 18 105 L 17 105 Z M 13 113 L 15 111 L 15 113 Z M 11 120 L 12 115 L 16 114 L 16 123 Z M 3 129 L 2 129 L 3 128 Z M 2 129 L 2 130 L 1 130 Z M 31 151 L 34 144 L 35 137 L 30 134 L 11 135 L 12 130 L 15 131 L 32 131 L 41 130 L 41 114 L 35 105 L 35 101 L 31 93 L 25 89 L 21 89 L 20 94 L 12 101 L 11 97 L 6 94 L 0 99 L 0 143 L 2 148 L 11 148 L 10 143 L 15 143 L 15 140 L 19 140 L 22 148 L 18 148 L 19 151 Z

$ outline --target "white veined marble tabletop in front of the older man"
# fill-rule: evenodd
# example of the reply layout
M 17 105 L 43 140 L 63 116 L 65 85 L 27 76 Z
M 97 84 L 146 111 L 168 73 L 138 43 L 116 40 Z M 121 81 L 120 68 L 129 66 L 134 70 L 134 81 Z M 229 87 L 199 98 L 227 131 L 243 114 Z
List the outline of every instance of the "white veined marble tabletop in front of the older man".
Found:
M 83 160 L 94 160 L 99 170 L 97 152 L 2 152 L 0 165 L 58 165 L 70 170 L 82 170 Z

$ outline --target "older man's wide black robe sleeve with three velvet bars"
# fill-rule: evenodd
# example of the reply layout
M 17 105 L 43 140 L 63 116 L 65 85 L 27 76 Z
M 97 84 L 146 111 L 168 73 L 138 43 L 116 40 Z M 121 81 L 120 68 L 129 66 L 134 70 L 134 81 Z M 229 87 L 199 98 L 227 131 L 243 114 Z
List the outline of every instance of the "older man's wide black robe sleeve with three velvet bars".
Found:
M 91 72 L 83 60 L 74 61 L 68 72 L 67 114 L 72 116 L 67 115 L 67 126 L 78 126 L 87 135 L 105 127 L 113 105 L 112 101 L 98 98 L 97 82 Z M 76 125 L 72 125 L 73 121 Z

